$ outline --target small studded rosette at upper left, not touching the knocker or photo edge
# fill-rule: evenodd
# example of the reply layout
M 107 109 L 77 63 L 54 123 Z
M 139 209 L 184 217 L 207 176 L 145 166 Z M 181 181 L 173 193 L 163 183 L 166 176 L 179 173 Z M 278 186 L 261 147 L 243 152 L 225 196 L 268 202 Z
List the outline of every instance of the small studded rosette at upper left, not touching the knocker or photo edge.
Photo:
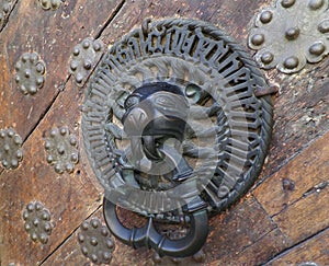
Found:
M 24 94 L 35 94 L 43 88 L 46 76 L 45 63 L 36 53 L 25 53 L 15 63 L 15 81 Z

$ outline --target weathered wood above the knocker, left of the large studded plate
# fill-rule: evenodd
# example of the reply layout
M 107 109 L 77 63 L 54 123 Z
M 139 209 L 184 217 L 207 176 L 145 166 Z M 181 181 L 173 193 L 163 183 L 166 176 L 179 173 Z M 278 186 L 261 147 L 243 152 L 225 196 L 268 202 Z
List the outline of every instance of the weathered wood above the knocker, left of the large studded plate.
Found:
M 246 46 L 248 34 L 246 25 L 249 24 L 256 10 L 270 2 L 270 0 L 242 2 L 231 0 L 129 1 L 105 28 L 101 38 L 106 44 L 113 44 L 117 41 L 115 36 L 123 36 L 133 27 L 140 26 L 146 18 L 154 20 L 188 18 L 211 22 Z

